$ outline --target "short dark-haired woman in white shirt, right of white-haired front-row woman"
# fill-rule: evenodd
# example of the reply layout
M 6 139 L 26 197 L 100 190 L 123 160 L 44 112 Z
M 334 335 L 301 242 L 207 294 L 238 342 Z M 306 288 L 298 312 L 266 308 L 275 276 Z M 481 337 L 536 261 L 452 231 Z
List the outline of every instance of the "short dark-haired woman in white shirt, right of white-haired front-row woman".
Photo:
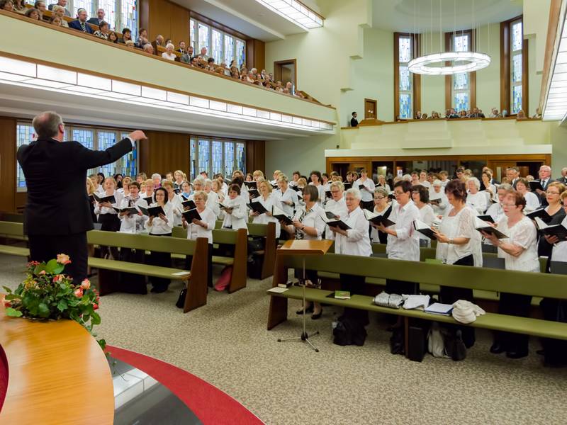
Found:
M 420 210 L 411 202 L 412 184 L 398 181 L 394 184 L 394 196 L 398 205 L 392 209 L 390 220 L 395 224 L 390 227 L 378 225 L 378 230 L 388 234 L 386 253 L 388 259 L 420 261 L 420 237 L 413 227 L 413 222 L 420 219 Z M 396 294 L 417 294 L 419 283 L 386 280 L 386 292 Z

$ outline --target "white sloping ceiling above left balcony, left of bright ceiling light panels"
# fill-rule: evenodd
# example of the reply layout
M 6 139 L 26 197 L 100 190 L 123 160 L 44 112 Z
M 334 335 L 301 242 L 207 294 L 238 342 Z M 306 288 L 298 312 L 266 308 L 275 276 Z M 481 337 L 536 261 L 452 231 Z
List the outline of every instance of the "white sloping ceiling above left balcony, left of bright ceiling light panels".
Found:
M 256 0 L 172 0 L 174 3 L 262 41 L 275 41 L 305 30 Z M 312 6 L 311 4 L 309 5 Z

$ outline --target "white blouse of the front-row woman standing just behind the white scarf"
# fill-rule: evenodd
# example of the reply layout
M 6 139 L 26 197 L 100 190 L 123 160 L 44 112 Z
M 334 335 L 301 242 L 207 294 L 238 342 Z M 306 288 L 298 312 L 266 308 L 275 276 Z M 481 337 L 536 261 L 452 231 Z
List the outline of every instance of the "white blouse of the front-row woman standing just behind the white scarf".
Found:
M 456 215 L 446 215 L 443 217 L 439 232 L 445 236 L 455 239 L 464 237 L 469 239 L 466 244 L 456 245 L 437 241 L 436 259 L 443 260 L 444 263 L 453 264 L 456 261 L 473 254 L 474 234 L 480 234 L 474 228 L 474 212 L 471 208 L 462 208 Z

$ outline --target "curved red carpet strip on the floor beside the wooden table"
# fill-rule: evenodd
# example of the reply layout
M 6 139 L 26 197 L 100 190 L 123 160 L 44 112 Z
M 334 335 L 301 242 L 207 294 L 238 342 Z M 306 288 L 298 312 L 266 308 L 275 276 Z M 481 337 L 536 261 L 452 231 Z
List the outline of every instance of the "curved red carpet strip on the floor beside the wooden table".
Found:
M 107 346 L 107 350 L 113 357 L 143 370 L 169 388 L 203 424 L 263 424 L 257 416 L 225 392 L 183 369 L 123 348 Z

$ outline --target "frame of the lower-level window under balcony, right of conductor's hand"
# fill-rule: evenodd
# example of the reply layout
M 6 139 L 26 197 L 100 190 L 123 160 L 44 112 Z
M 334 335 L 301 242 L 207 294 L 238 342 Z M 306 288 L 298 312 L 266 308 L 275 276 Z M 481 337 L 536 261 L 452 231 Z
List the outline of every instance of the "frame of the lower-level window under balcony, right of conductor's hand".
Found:
M 209 152 L 208 167 L 205 170 L 201 168 L 201 164 L 200 164 L 199 142 L 208 142 L 208 152 Z M 222 142 L 223 144 L 223 149 L 220 154 L 221 157 L 220 172 L 225 177 L 226 177 L 225 171 L 227 171 L 226 161 L 225 161 L 227 159 L 227 150 L 225 149 L 225 147 L 227 145 L 232 145 L 232 154 L 230 155 L 232 157 L 232 164 L 233 164 L 232 170 L 230 171 L 232 173 L 232 171 L 235 171 L 235 169 L 239 169 L 237 162 L 238 159 L 237 146 L 242 145 L 244 147 L 244 163 L 243 163 L 244 166 L 242 167 L 241 171 L 246 174 L 246 141 L 245 140 L 227 139 L 225 137 L 214 137 L 214 136 L 204 136 L 204 135 L 190 135 L 189 136 L 189 179 L 191 179 L 191 181 L 195 180 L 196 177 L 201 173 L 201 171 L 207 171 L 207 174 L 210 179 L 212 179 L 213 175 L 216 174 L 213 173 L 213 142 Z M 192 152 L 193 152 L 193 156 L 191 156 Z

